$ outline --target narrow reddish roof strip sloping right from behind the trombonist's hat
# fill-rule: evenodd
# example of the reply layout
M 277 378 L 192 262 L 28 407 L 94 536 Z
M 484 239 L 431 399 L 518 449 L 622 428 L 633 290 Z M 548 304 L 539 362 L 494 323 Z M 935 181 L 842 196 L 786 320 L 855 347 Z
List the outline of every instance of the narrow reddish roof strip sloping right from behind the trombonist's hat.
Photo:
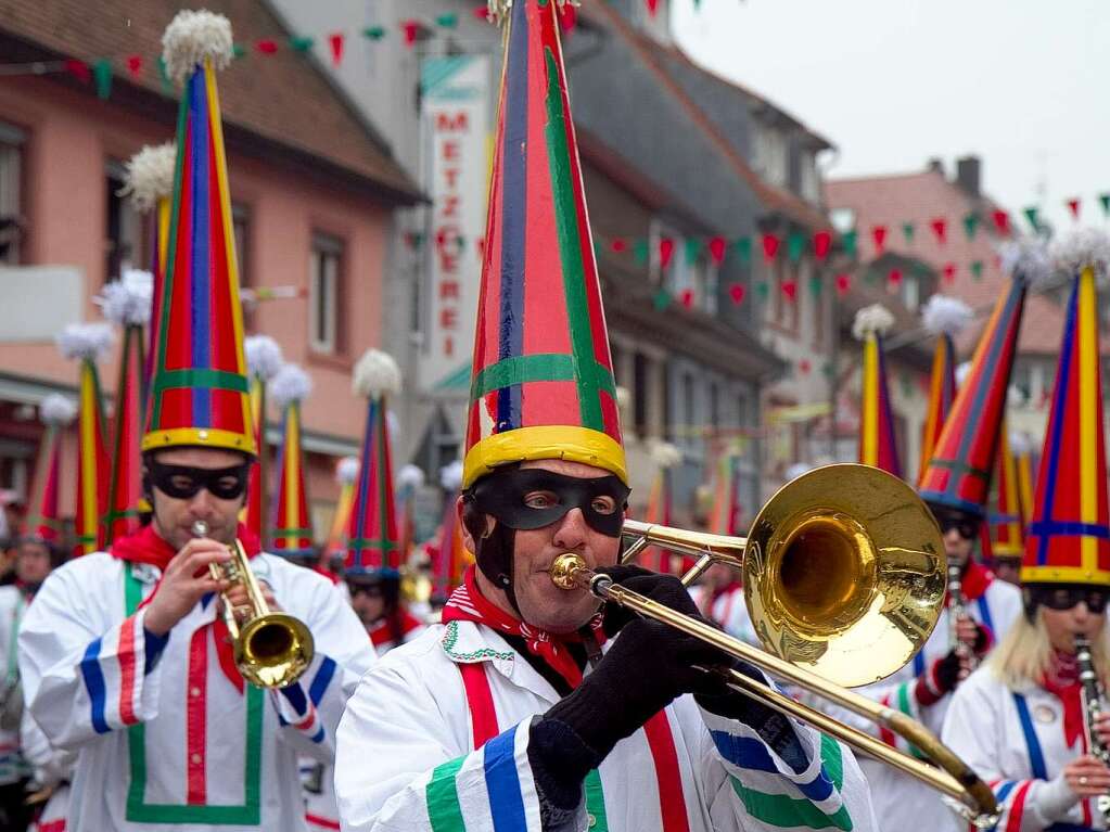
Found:
M 659 84 L 683 106 L 690 123 L 717 148 L 728 161 L 733 171 L 747 184 L 766 210 L 773 213 L 781 213 L 794 222 L 809 229 L 823 229 L 828 225 L 828 219 L 824 212 L 788 191 L 765 182 L 748 165 L 743 155 L 737 152 L 734 144 L 717 128 L 713 119 L 694 102 L 682 84 L 668 71 L 666 61 L 660 59 L 658 52 L 662 47 L 656 41 L 637 32 L 620 17 L 619 12 L 605 3 L 591 3 L 583 7 L 579 13 L 595 22 L 604 21 L 603 26 L 606 29 L 615 32 L 628 43 L 634 54 L 655 74 Z

